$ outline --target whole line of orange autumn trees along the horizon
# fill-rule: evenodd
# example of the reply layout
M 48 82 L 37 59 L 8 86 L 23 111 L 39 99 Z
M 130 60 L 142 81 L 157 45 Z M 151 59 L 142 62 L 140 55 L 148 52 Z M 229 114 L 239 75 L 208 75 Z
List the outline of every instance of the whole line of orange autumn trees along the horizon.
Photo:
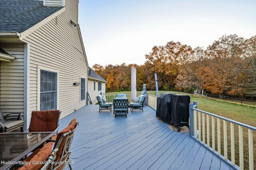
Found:
M 106 91 L 130 91 L 131 67 L 137 70 L 137 90 L 146 84 L 155 90 L 193 92 L 198 90 L 220 96 L 256 98 L 256 36 L 250 39 L 224 35 L 206 49 L 192 48 L 180 42 L 154 46 L 142 65 L 94 64 L 92 67 L 107 80 Z

